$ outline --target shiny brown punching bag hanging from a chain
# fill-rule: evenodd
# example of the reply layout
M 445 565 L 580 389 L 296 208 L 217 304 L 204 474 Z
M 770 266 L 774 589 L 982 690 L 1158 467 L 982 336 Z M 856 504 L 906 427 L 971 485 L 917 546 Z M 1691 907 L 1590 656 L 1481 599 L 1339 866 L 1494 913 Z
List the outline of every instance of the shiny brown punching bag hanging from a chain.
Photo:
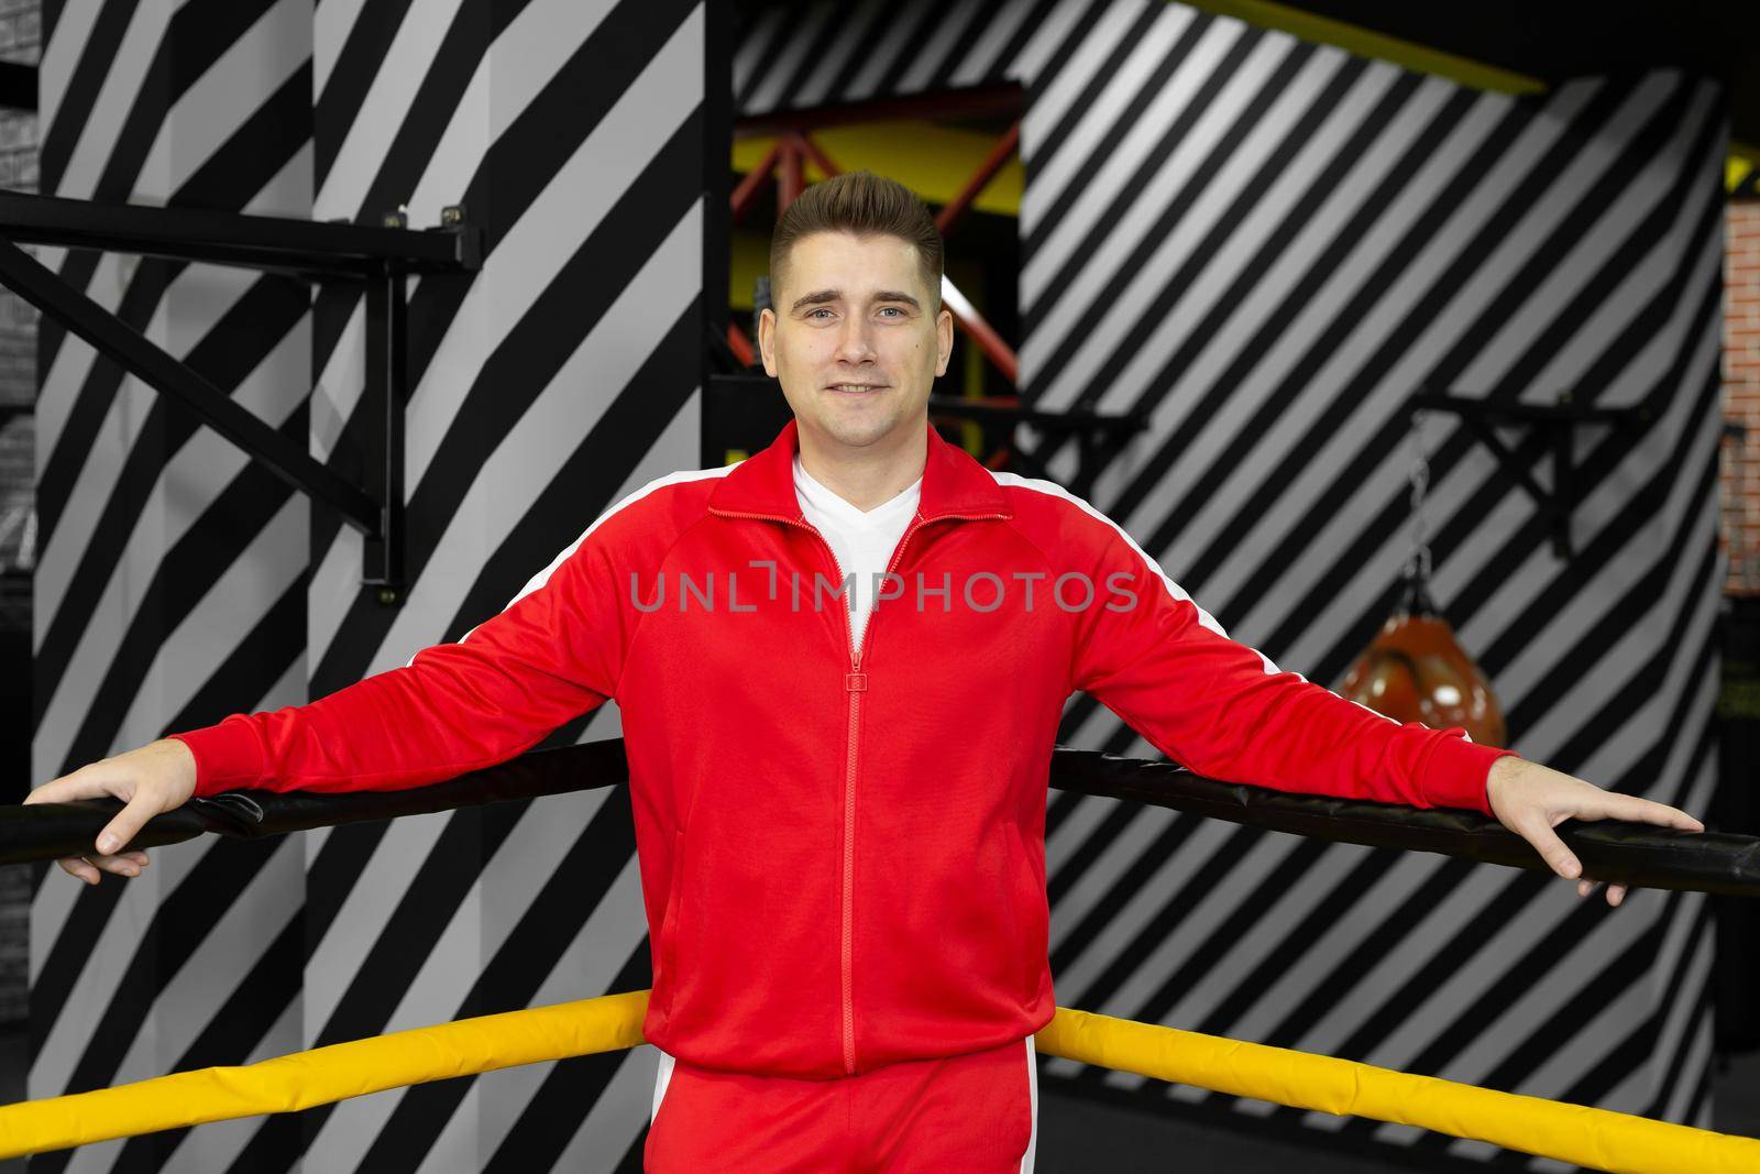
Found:
M 1463 727 L 1473 741 L 1503 746 L 1503 709 L 1485 674 L 1431 602 L 1424 576 L 1408 570 L 1404 598 L 1338 690 L 1396 722 Z

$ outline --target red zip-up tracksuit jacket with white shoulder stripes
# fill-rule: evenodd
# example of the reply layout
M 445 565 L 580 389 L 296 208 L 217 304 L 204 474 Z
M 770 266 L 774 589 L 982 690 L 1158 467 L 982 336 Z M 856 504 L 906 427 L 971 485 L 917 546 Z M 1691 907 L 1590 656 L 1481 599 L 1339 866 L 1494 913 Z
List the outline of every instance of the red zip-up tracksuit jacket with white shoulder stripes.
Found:
M 926 433 L 919 512 L 859 655 L 843 574 L 796 500 L 790 422 L 739 465 L 630 495 L 459 642 L 176 734 L 197 794 L 419 787 L 614 697 L 646 1037 L 794 1077 L 994 1047 L 1052 1017 L 1045 778 L 1074 690 L 1211 778 L 1489 811 L 1508 752 L 1280 671 L 1091 505 Z

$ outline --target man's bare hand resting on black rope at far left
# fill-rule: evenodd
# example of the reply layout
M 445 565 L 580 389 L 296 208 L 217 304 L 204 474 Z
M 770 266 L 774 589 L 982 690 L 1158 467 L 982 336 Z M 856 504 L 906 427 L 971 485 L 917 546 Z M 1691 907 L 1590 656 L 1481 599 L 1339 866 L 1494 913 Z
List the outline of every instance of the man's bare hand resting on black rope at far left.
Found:
M 139 877 L 146 852 L 118 852 L 139 834 L 146 820 L 160 811 L 181 808 L 195 794 L 195 755 L 176 737 L 160 737 L 139 750 L 120 753 L 79 767 L 37 787 L 25 803 L 72 803 L 114 796 L 127 806 L 99 833 L 92 855 L 67 855 L 56 861 L 88 885 L 99 882 L 99 869 L 118 877 Z

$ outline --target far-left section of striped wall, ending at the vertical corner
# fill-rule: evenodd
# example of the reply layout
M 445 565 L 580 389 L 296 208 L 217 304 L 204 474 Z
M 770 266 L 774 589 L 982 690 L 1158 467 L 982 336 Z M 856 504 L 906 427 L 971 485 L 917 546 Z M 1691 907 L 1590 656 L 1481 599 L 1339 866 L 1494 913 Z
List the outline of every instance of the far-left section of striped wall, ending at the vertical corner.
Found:
M 86 4 L 44 12 L 40 190 L 306 216 L 310 5 Z M 306 433 L 310 297 L 245 271 L 39 250 L 252 412 Z M 304 697 L 308 510 L 183 412 L 44 320 L 39 334 L 33 776 L 227 706 Z M 33 1097 L 297 1047 L 297 845 L 165 852 L 109 892 L 39 878 Z M 213 975 L 215 982 L 192 980 Z M 239 1130 L 187 1139 L 224 1167 Z M 137 1144 L 157 1153 L 164 1141 Z M 120 1146 L 33 1169 L 111 1169 Z

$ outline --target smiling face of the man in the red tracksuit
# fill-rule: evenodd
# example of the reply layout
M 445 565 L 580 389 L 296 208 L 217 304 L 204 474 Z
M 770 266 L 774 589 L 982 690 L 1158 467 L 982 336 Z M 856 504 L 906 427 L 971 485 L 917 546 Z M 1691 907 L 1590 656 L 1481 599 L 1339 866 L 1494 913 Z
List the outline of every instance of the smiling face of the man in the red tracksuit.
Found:
M 764 370 L 803 431 L 864 449 L 926 419 L 947 371 L 954 319 L 917 271 L 917 246 L 896 236 L 815 232 L 794 243 L 774 310 L 759 317 Z

